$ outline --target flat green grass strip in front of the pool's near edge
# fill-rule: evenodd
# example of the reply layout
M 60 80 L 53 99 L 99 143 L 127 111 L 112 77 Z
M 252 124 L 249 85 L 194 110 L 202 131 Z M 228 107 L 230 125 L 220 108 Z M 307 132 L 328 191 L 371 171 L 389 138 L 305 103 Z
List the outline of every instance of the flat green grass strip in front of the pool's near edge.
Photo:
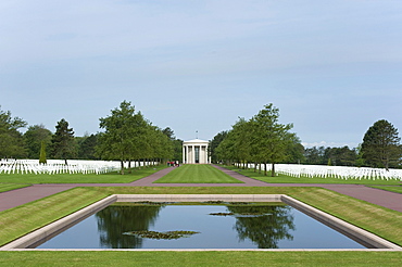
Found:
M 401 252 L 0 252 L 0 266 L 400 266 Z

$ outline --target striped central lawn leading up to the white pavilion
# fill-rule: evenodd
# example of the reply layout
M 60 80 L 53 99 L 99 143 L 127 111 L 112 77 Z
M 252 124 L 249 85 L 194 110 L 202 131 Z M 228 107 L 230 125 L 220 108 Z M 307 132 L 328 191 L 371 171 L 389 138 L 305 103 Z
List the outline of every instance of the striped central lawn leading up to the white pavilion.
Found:
M 183 165 L 172 170 L 155 183 L 242 183 L 209 164 Z

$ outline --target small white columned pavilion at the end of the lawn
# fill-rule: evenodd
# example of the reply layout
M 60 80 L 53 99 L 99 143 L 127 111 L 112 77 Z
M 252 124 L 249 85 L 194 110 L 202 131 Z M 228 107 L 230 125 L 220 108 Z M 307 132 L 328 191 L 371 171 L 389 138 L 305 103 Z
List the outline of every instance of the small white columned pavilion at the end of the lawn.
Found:
M 183 142 L 183 163 L 186 164 L 209 164 L 208 156 L 209 141 L 193 139 Z

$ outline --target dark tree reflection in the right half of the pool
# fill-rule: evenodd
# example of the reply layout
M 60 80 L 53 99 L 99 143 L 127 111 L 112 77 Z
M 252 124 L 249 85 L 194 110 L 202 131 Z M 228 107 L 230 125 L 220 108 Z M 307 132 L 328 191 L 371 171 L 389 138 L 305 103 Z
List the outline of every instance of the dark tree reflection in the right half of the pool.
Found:
M 239 240 L 250 239 L 259 249 L 277 249 L 278 241 L 293 240 L 289 230 L 294 230 L 293 216 L 289 206 L 228 206 L 235 214 L 261 213 L 269 214 L 256 217 L 237 217 L 234 229 Z

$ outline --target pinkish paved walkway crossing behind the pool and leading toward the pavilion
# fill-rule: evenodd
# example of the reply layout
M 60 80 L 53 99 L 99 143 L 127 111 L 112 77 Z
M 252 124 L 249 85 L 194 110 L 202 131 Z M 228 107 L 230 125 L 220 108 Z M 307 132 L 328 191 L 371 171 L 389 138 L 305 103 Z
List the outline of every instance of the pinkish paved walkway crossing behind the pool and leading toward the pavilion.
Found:
M 155 180 L 172 171 L 175 167 L 162 169 L 140 180 L 129 183 L 58 183 L 34 185 L 0 193 L 0 212 L 11 207 L 42 199 L 75 187 L 322 187 L 359 200 L 367 201 L 398 212 L 402 212 L 402 194 L 380 189 L 368 188 L 363 185 L 324 185 L 324 183 L 267 183 L 259 181 L 234 170 L 215 166 L 243 183 L 153 183 Z

